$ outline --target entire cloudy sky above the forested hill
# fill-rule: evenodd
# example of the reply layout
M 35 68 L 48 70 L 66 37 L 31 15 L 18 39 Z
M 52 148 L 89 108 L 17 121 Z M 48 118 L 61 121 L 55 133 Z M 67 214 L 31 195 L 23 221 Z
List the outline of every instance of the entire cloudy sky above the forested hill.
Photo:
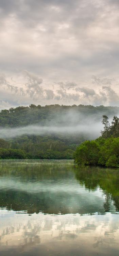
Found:
M 0 0 L 0 109 L 119 106 L 118 0 Z

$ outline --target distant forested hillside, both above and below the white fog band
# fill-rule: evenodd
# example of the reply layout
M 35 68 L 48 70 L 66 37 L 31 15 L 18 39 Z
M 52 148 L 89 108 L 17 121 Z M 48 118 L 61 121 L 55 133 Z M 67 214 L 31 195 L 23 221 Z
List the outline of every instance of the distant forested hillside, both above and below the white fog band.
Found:
M 32 125 L 67 127 L 72 133 L 49 132 L 43 135 L 27 134 L 14 138 L 0 137 L 0 158 L 2 159 L 73 159 L 73 154 L 82 142 L 94 139 L 87 131 L 75 132 L 77 125 L 101 122 L 102 115 L 111 118 L 119 112 L 118 107 L 91 105 L 33 105 L 19 106 L 0 111 L 0 131 Z M 92 120 L 92 121 L 91 121 Z M 30 128 L 29 128 L 30 129 Z M 91 129 L 89 129 L 91 130 Z M 112 131 L 111 131 L 112 132 Z M 0 133 L 1 134 L 1 133 Z M 103 135 L 103 134 L 102 134 Z

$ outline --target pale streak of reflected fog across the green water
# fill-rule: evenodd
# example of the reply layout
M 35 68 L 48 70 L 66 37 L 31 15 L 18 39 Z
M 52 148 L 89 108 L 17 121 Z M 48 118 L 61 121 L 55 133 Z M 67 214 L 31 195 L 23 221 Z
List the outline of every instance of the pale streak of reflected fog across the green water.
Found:
M 57 180 L 47 180 L 44 181 L 27 181 L 23 182 L 20 181 L 19 177 L 0 177 L 0 190 L 21 190 L 26 191 L 28 193 L 37 193 L 40 191 L 51 191 L 51 192 L 66 192 L 66 193 L 89 193 L 89 191 L 85 189 L 85 185 L 81 186 L 79 182 L 76 180 L 71 179 L 60 179 L 60 182 Z M 94 195 L 97 195 L 99 197 L 102 197 L 102 191 L 97 189 L 96 191 L 93 191 Z

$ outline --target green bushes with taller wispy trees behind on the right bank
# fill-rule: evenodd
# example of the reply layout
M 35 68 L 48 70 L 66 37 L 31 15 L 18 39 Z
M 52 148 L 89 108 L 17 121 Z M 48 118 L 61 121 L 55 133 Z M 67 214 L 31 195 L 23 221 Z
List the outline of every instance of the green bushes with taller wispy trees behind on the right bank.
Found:
M 85 141 L 74 153 L 75 162 L 79 165 L 100 165 L 119 168 L 119 118 L 114 116 L 112 124 L 103 115 L 104 130 L 101 137 Z

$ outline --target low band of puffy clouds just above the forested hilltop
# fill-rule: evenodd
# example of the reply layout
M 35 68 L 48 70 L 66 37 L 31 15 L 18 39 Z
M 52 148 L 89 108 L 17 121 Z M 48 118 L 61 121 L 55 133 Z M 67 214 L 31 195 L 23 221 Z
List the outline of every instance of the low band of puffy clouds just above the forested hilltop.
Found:
M 29 105 L 31 103 L 119 106 L 118 91 L 114 89 L 114 84 L 118 84 L 118 81 L 109 77 L 94 76 L 93 81 L 99 88 L 95 86 L 94 89 L 88 86 L 90 81 L 87 81 L 86 86 L 82 87 L 75 82 L 55 82 L 52 85 L 48 81 L 43 81 L 40 76 L 25 70 L 19 76 L 19 84 L 16 86 L 16 78 L 1 74 L 1 100 L 7 102 L 5 108 L 11 106 L 12 102 L 13 106 Z M 110 85 L 111 83 L 112 85 Z

